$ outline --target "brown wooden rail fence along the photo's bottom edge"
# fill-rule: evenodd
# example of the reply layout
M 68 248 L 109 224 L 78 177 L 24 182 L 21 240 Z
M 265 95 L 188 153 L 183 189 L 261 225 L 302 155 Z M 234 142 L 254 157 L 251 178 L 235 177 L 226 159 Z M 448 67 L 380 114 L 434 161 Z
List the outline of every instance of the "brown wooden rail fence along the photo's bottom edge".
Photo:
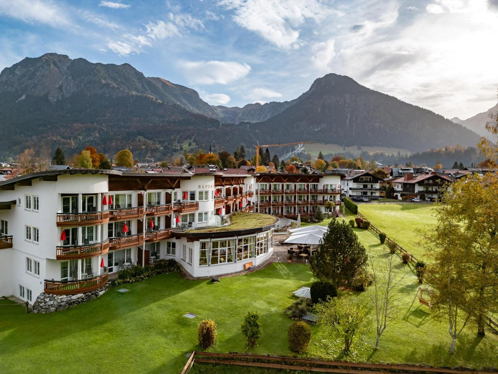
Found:
M 417 365 L 368 364 L 345 361 L 324 361 L 314 359 L 294 359 L 290 357 L 273 357 L 245 355 L 237 353 L 192 352 L 181 374 L 187 374 L 196 363 L 258 367 L 283 370 L 300 370 L 303 372 L 342 373 L 342 374 L 378 374 L 389 373 L 444 373 L 444 374 L 498 374 L 498 372 L 481 370 L 457 370 L 431 368 Z

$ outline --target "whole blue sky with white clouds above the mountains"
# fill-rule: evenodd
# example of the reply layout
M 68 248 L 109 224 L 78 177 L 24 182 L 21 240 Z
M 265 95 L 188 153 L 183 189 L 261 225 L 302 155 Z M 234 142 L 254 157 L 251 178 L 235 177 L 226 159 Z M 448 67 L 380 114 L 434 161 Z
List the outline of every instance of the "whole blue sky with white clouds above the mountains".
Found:
M 497 102 L 498 0 L 0 0 L 0 69 L 129 63 L 210 104 L 291 100 L 333 72 L 451 118 Z

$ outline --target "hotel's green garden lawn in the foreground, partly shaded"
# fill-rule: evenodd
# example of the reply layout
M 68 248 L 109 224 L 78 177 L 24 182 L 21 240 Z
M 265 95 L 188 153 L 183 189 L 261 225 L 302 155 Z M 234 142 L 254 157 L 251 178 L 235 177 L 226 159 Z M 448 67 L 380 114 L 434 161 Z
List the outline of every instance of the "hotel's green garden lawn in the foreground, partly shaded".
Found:
M 355 229 L 373 256 L 386 256 L 378 238 L 367 230 Z M 341 353 L 342 342 L 328 339 L 320 325 L 313 326 L 313 338 L 303 356 L 324 359 L 390 363 L 427 363 L 434 366 L 498 366 L 498 338 L 487 334 L 479 339 L 470 325 L 457 341 L 453 356 L 448 354 L 450 337 L 436 311 L 415 302 L 418 284 L 413 269 L 400 285 L 402 300 L 398 320 L 387 328 L 380 350 L 373 351 L 374 326 L 349 357 Z M 158 275 L 142 282 L 124 284 L 131 292 L 111 288 L 101 298 L 63 312 L 28 314 L 22 307 L 0 307 L 1 373 L 23 373 L 36 368 L 41 373 L 178 373 L 185 354 L 199 350 L 197 326 L 201 319 L 218 325 L 214 352 L 252 352 L 292 355 L 287 347 L 291 320 L 284 309 L 294 300 L 291 292 L 313 280 L 309 266 L 276 263 L 253 273 L 224 278 L 220 283 L 187 281 L 177 274 Z M 361 294 L 368 298 L 371 289 Z M 342 297 L 348 297 L 343 293 Z M 259 344 L 249 349 L 240 330 L 244 315 L 261 316 Z M 193 320 L 186 312 L 198 314 Z M 195 367 L 195 366 L 194 366 Z M 233 373 L 200 366 L 199 373 Z M 256 372 L 254 372 L 256 373 Z M 259 372 L 260 373 L 260 372 Z

